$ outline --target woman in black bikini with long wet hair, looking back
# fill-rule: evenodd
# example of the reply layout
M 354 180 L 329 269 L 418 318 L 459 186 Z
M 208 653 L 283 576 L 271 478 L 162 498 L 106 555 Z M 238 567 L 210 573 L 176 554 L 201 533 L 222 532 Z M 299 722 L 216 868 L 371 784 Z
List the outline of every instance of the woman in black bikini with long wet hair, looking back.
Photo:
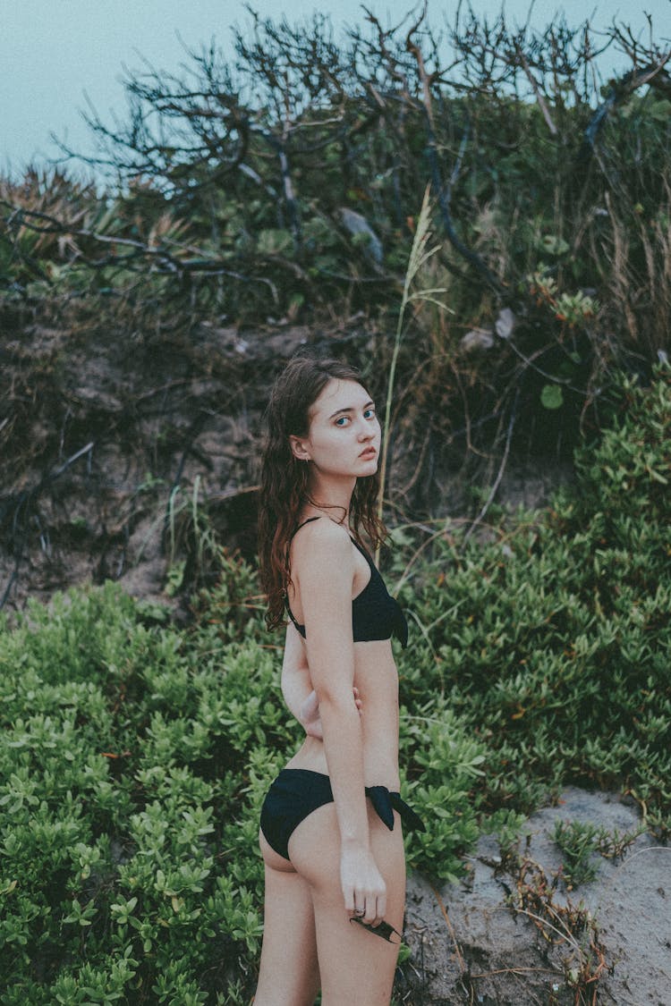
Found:
M 368 552 L 380 427 L 357 371 L 292 359 L 268 410 L 260 517 L 269 626 L 289 616 L 282 690 L 306 739 L 261 817 L 264 945 L 255 1006 L 385 1006 L 405 895 L 398 679 L 405 620 Z M 363 925 L 350 925 L 351 921 Z M 395 935 L 394 935 L 395 934 Z M 383 939 L 380 939 L 380 936 Z

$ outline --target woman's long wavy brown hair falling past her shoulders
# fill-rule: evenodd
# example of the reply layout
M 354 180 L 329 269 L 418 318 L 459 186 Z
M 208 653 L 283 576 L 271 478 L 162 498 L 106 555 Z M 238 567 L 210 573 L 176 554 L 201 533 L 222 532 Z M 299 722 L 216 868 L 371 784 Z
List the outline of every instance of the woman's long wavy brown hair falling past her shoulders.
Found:
M 360 374 L 347 363 L 294 356 L 277 378 L 266 410 L 267 435 L 262 457 L 259 507 L 259 561 L 261 582 L 268 598 L 266 622 L 269 629 L 284 624 L 284 605 L 291 582 L 289 545 L 296 530 L 301 508 L 310 501 L 309 466 L 299 461 L 291 449 L 290 437 L 307 437 L 310 407 L 330 380 L 360 383 Z M 354 535 L 360 529 L 373 547 L 380 544 L 386 530 L 376 513 L 379 475 L 356 480 L 350 503 Z

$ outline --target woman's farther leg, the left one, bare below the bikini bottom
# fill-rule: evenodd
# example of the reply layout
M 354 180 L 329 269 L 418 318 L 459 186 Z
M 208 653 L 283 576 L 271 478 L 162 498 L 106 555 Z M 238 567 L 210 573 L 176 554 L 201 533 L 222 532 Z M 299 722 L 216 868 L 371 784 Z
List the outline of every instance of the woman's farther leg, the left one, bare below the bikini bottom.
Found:
M 260 835 L 266 864 L 264 943 L 254 1006 L 314 1006 L 319 992 L 308 882 Z

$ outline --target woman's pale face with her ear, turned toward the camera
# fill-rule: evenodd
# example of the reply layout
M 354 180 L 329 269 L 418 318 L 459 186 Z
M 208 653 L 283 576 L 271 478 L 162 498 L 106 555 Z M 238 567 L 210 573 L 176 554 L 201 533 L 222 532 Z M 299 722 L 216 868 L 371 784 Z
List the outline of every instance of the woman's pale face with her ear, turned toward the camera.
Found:
M 310 408 L 307 437 L 292 437 L 300 461 L 316 473 L 362 478 L 377 471 L 380 425 L 375 406 L 356 381 L 331 379 Z

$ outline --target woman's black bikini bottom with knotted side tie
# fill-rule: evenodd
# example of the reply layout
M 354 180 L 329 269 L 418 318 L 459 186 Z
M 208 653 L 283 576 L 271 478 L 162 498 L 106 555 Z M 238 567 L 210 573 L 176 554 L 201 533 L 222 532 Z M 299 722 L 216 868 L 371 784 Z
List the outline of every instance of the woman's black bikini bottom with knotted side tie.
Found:
M 386 786 L 366 786 L 366 796 L 377 816 L 393 830 L 393 812 L 409 831 L 426 831 L 424 823 L 400 799 L 400 794 L 389 793 Z M 279 855 L 289 859 L 289 839 L 294 829 L 318 807 L 333 802 L 331 780 L 321 772 L 309 769 L 283 769 L 271 786 L 261 809 L 261 830 L 268 844 Z

